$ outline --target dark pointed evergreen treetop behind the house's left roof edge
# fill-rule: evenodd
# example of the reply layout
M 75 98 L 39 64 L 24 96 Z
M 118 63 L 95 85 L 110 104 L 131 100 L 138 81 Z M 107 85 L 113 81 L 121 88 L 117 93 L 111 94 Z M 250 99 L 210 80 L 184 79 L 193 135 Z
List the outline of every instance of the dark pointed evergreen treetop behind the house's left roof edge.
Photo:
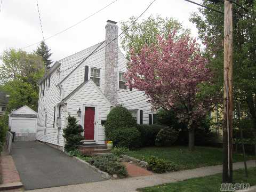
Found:
M 40 45 L 37 47 L 37 50 L 34 52 L 43 58 L 45 67 L 50 68 L 50 65 L 53 61 L 49 58 L 51 57 L 52 53 L 44 41 L 40 43 Z

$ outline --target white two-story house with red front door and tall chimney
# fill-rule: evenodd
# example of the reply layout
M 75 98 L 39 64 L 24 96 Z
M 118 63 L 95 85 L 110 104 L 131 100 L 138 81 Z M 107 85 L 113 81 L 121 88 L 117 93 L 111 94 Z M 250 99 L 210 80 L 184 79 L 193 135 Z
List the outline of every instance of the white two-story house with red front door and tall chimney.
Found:
M 37 140 L 63 146 L 62 130 L 70 115 L 83 126 L 84 143 L 104 144 L 103 123 L 118 104 L 129 109 L 138 124 L 153 123 L 145 93 L 125 86 L 127 60 L 117 36 L 116 22 L 108 20 L 105 41 L 55 62 L 39 80 Z

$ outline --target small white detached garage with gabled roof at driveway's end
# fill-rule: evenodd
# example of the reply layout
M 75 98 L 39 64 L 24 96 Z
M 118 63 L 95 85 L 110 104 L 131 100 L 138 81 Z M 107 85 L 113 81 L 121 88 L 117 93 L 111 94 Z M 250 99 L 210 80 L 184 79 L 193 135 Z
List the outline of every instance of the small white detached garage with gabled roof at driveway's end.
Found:
M 9 117 L 9 127 L 15 132 L 15 141 L 36 140 L 37 113 L 28 106 L 12 111 Z

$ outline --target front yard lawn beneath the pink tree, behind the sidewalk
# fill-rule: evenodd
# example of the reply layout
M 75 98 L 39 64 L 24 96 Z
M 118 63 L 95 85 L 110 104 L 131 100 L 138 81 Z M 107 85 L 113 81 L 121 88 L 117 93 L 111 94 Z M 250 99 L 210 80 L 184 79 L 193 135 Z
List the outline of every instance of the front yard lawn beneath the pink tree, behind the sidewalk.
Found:
M 211 147 L 196 147 L 193 152 L 188 151 L 188 147 L 185 146 L 146 147 L 129 151 L 127 155 L 144 161 L 150 156 L 163 158 L 177 165 L 179 170 L 222 164 L 222 149 Z M 247 156 L 247 159 L 253 159 L 253 156 Z M 233 161 L 242 162 L 243 155 L 234 154 Z

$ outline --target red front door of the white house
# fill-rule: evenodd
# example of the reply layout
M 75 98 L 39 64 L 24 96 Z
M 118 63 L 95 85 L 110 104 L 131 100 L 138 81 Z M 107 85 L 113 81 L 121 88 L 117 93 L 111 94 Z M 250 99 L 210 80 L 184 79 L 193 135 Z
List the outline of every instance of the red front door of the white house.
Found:
M 94 139 L 94 107 L 85 107 L 84 112 L 84 138 L 86 140 Z

